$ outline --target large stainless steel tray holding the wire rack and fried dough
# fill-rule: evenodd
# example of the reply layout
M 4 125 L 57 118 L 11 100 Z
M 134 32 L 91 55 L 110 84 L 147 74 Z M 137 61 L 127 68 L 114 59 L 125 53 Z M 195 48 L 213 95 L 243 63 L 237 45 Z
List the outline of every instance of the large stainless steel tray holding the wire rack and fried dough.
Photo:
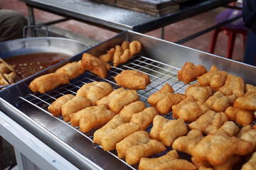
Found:
M 79 128 L 73 128 L 70 123 L 65 123 L 61 116 L 53 117 L 47 110 L 50 103 L 63 94 L 75 94 L 83 84 L 91 81 L 107 81 L 114 89 L 117 89 L 119 86 L 113 77 L 124 69 L 136 69 L 149 74 L 151 79 L 151 84 L 145 90 L 138 91 L 140 100 L 149 106 L 146 102 L 147 98 L 159 91 L 166 83 L 173 86 L 175 92 L 184 94 L 188 85 L 178 81 L 177 73 L 185 62 L 203 64 L 208 70 L 215 64 L 218 69 L 242 77 L 246 83 L 256 85 L 256 67 L 132 31 L 120 33 L 85 52 L 98 56 L 124 40 L 139 40 L 142 42 L 142 51 L 126 63 L 112 67 L 107 79 L 85 72 L 77 79 L 70 81 L 70 84 L 58 86 L 46 94 L 31 93 L 28 84 L 33 79 L 53 72 L 65 63 L 80 60 L 82 57 L 80 53 L 0 91 L 0 110 L 79 169 L 137 169 L 137 165 L 129 166 L 124 159 L 118 159 L 115 150 L 104 152 L 102 147 L 94 145 L 92 143 L 94 130 L 83 134 Z M 166 115 L 166 118 L 171 119 L 171 113 Z M 150 128 L 151 126 L 147 130 L 149 131 Z M 184 159 L 188 157 L 186 154 L 180 156 Z

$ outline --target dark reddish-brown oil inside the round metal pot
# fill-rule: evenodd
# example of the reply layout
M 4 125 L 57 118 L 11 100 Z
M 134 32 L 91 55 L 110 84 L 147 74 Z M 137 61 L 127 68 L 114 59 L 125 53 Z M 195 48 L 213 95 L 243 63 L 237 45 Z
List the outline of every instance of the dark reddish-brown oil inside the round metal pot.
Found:
M 62 53 L 41 52 L 26 55 L 16 55 L 4 59 L 8 64 L 15 65 L 15 71 L 21 75 L 23 79 L 33 74 L 41 72 L 43 69 L 57 64 L 71 57 Z

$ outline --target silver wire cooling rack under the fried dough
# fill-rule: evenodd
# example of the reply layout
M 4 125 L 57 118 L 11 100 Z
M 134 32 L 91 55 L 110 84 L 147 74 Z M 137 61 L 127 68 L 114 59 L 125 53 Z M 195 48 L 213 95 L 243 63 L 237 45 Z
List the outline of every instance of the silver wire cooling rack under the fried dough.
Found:
M 51 115 L 51 113 L 48 112 L 48 106 L 53 103 L 57 98 L 60 96 L 63 96 L 65 94 L 73 94 L 75 95 L 78 89 L 84 84 L 90 83 L 92 81 L 106 81 L 110 83 L 113 87 L 113 89 L 119 89 L 120 87 L 117 86 L 117 84 L 114 81 L 114 77 L 121 73 L 123 70 L 126 69 L 134 69 L 139 72 L 144 72 L 145 74 L 149 75 L 149 78 L 151 80 L 151 84 L 149 84 L 146 89 L 137 91 L 137 94 L 140 97 L 140 101 L 144 101 L 146 104 L 146 107 L 149 107 L 149 103 L 147 103 L 147 98 L 154 94 L 156 91 L 159 91 L 165 84 L 169 84 L 173 87 L 174 93 L 181 93 L 185 94 L 185 89 L 189 85 L 183 84 L 182 81 L 178 81 L 178 71 L 176 67 L 172 67 L 168 64 L 164 64 L 162 62 L 158 62 L 156 60 L 151 60 L 149 58 L 143 57 L 143 56 L 135 56 L 132 57 L 128 62 L 124 64 L 120 64 L 118 67 L 112 67 L 108 72 L 107 79 L 102 79 L 100 77 L 95 76 L 95 74 L 92 74 L 91 72 L 85 72 L 77 79 L 74 79 L 70 81 L 70 84 L 65 84 L 58 86 L 57 88 L 53 89 L 52 91 L 48 91 L 45 94 L 40 94 L 39 92 L 35 94 L 28 94 L 24 97 L 18 97 L 17 105 L 18 103 L 27 102 L 30 103 L 32 106 L 35 106 L 36 108 L 41 109 L 41 111 L 44 111 L 45 113 L 48 113 Z M 169 113 L 164 116 L 165 118 L 172 119 L 172 113 Z M 58 116 L 60 120 L 63 120 L 64 118 L 62 116 Z M 68 125 L 72 126 L 69 122 Z M 146 131 L 150 132 L 152 125 L 149 125 L 149 127 L 146 129 Z M 75 127 L 78 132 L 80 132 L 79 127 Z M 87 139 L 92 141 L 93 133 L 95 130 L 92 130 L 91 132 L 82 134 Z M 82 133 L 82 132 L 80 132 Z M 92 142 L 93 143 L 93 142 Z M 96 147 L 101 147 L 99 145 L 95 145 Z M 162 154 L 165 154 L 168 152 L 171 148 L 168 148 L 165 152 L 153 155 L 152 157 L 159 157 Z M 114 157 L 117 157 L 117 152 L 111 151 L 109 152 Z M 181 154 L 180 158 L 187 157 L 186 154 Z M 118 157 L 117 157 L 118 159 Z M 124 164 L 127 164 L 124 159 L 120 159 Z M 127 164 L 127 166 L 129 166 Z M 135 166 L 129 166 L 132 169 L 137 169 L 137 165 Z

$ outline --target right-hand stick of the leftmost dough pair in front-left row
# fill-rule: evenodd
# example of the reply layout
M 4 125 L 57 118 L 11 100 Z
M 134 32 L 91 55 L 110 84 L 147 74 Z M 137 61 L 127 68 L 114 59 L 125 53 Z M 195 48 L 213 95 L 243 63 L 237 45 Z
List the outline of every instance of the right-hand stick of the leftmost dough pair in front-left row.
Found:
M 91 106 L 91 102 L 88 98 L 84 96 L 75 96 L 70 101 L 67 101 L 63 104 L 63 106 L 61 106 L 61 113 L 65 122 L 69 122 L 70 114 L 76 113 L 89 106 Z

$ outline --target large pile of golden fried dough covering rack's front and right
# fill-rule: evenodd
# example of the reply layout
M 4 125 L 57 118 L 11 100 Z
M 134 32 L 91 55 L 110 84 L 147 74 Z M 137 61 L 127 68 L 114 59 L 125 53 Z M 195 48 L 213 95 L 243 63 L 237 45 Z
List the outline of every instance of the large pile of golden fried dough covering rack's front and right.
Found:
M 61 96 L 48 110 L 82 132 L 96 130 L 94 143 L 105 151 L 116 149 L 120 159 L 139 169 L 233 169 L 237 164 L 256 169 L 256 86 L 215 65 L 207 72 L 193 63 L 184 64 L 178 79 L 198 83 L 185 94 L 165 84 L 149 96 L 151 107 L 139 101 L 136 90 L 94 81 Z M 171 112 L 174 119 L 164 118 Z M 163 156 L 151 157 L 169 147 Z M 177 151 L 191 160 L 179 159 Z

